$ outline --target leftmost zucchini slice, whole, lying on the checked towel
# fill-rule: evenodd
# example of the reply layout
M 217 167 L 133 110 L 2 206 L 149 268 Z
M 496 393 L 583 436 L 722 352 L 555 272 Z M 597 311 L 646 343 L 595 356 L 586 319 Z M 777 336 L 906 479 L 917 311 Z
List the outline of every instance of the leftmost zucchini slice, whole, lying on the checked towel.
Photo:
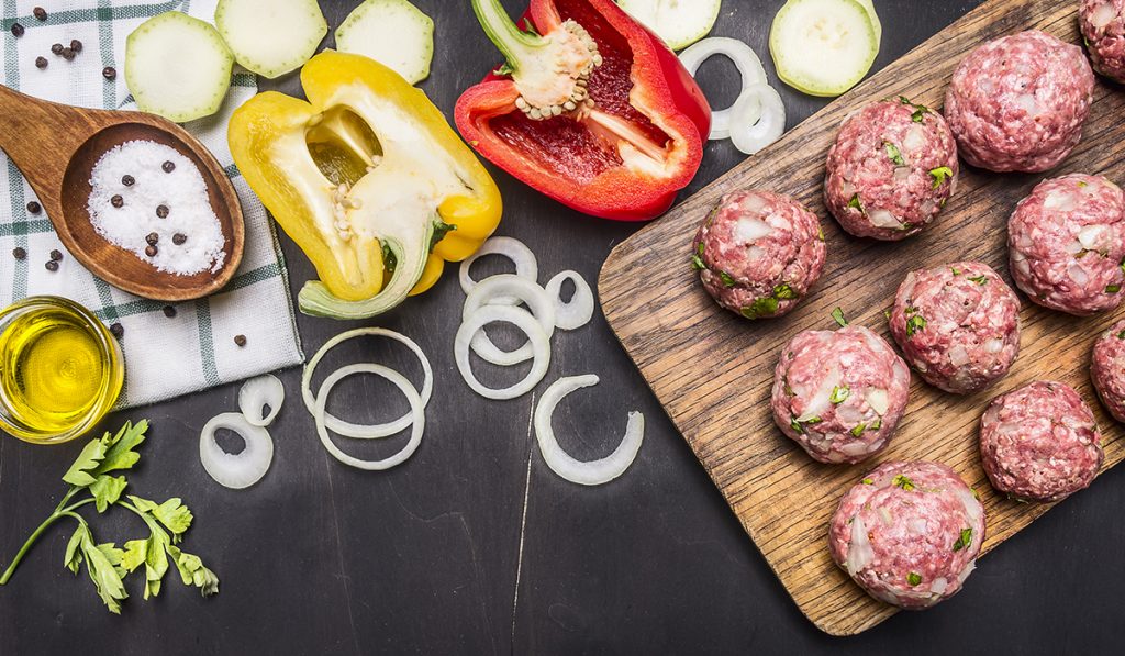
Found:
M 233 65 L 218 32 L 179 11 L 153 16 L 125 42 L 125 84 L 137 107 L 177 123 L 218 111 Z

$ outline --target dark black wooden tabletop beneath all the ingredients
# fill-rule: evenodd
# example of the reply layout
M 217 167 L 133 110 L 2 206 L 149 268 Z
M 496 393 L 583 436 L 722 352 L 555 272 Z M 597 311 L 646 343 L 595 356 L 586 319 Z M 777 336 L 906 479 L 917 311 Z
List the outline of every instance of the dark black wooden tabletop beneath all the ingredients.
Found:
M 356 5 L 322 3 L 333 26 Z M 449 114 L 458 92 L 498 57 L 467 0 L 416 3 L 436 23 L 433 73 L 422 87 Z M 766 41 L 781 3 L 727 0 L 714 30 L 747 41 L 773 80 Z M 884 27 L 882 66 L 978 2 L 875 3 Z M 505 5 L 515 12 L 523 2 Z M 717 106 L 734 100 L 732 72 L 717 62 L 701 73 Z M 295 77 L 262 88 L 298 92 Z M 780 90 L 790 126 L 822 106 Z M 728 142 L 710 144 L 686 192 L 740 160 Z M 500 234 L 536 251 L 541 282 L 562 269 L 593 282 L 610 249 L 636 230 L 579 216 L 495 176 L 505 200 Z M 285 248 L 296 287 L 312 269 L 290 242 Z M 289 396 L 272 429 L 272 469 L 249 491 L 218 487 L 198 457 L 199 429 L 236 407 L 237 386 L 107 421 L 106 428 L 132 417 L 152 421 L 130 484 L 153 498 L 182 496 L 191 506 L 196 524 L 187 547 L 218 573 L 222 593 L 200 600 L 169 573 L 160 597 L 142 602 L 140 588 L 130 588 L 134 599 L 123 615 L 111 615 L 84 574 L 74 579 L 62 567 L 70 531 L 60 529 L 0 588 L 0 654 L 947 656 L 1097 654 L 1125 640 L 1125 469 L 1107 473 L 1006 542 L 954 600 L 901 613 L 861 637 L 829 638 L 796 611 L 601 315 L 555 339 L 548 380 L 588 372 L 602 378 L 597 393 L 560 406 L 560 440 L 577 457 L 593 458 L 618 439 L 628 410 L 644 411 L 648 425 L 638 460 L 621 479 L 582 488 L 543 465 L 529 432 L 530 396 L 487 402 L 460 379 L 451 353 L 462 298 L 450 271 L 433 291 L 378 322 L 417 340 L 436 377 L 422 447 L 390 471 L 354 470 L 326 455 L 300 404 L 297 369 L 281 374 Z M 352 327 L 308 317 L 299 324 L 308 353 Z M 361 358 L 416 372 L 411 356 L 376 340 L 341 349 L 327 363 Z M 482 374 L 494 383 L 504 376 L 514 375 Z M 357 379 L 330 405 L 375 421 L 397 414 L 405 402 L 378 380 Z M 385 455 L 404 439 L 360 444 L 356 452 Z M 58 477 L 80 448 L 0 439 L 0 563 L 50 513 L 63 492 Z M 100 539 L 138 532 L 129 518 L 112 514 L 106 522 Z

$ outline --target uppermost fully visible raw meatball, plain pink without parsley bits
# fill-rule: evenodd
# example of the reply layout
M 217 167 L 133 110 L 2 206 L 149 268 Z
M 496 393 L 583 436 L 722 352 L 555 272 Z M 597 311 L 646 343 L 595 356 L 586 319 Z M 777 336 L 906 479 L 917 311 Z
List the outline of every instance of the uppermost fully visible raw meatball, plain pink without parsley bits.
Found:
M 1029 30 L 969 54 L 945 95 L 961 156 L 992 171 L 1046 171 L 1082 138 L 1094 71 L 1081 48 Z

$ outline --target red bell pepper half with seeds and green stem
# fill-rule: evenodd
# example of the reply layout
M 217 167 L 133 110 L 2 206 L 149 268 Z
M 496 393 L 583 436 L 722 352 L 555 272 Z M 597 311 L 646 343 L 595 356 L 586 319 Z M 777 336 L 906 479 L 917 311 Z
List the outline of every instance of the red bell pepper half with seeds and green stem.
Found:
M 457 127 L 497 167 L 585 214 L 647 221 L 699 170 L 711 108 L 659 37 L 613 0 L 472 8 L 506 63 L 457 102 Z

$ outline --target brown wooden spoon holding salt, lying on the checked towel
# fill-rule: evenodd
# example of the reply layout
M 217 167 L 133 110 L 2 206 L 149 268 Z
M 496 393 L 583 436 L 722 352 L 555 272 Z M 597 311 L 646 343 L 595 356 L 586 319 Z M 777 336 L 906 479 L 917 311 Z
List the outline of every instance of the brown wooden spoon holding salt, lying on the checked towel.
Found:
M 87 210 L 90 172 L 106 151 L 137 140 L 170 146 L 199 169 L 223 231 L 226 259 L 218 271 L 159 271 L 93 228 Z M 245 231 L 238 196 L 215 156 L 174 123 L 137 111 L 57 105 L 0 84 L 0 149 L 27 178 L 66 250 L 110 285 L 156 300 L 190 300 L 218 291 L 237 270 Z

